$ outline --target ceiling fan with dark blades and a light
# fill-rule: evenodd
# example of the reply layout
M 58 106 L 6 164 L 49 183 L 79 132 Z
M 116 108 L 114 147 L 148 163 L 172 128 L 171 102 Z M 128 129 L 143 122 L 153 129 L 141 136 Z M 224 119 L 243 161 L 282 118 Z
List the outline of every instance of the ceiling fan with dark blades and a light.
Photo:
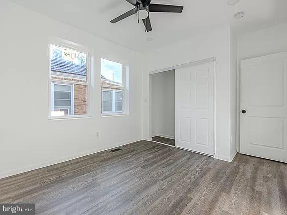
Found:
M 183 6 L 176 6 L 176 5 L 167 5 L 167 4 L 154 4 L 150 3 L 151 0 L 126 0 L 135 6 L 134 9 L 118 16 L 117 18 L 113 19 L 111 22 L 116 23 L 121 21 L 124 18 L 127 18 L 131 15 L 136 14 L 138 16 L 138 21 L 140 19 L 143 20 L 143 24 L 145 26 L 145 30 L 151 31 L 151 24 L 149 19 L 149 12 L 175 12 L 181 13 L 183 10 Z

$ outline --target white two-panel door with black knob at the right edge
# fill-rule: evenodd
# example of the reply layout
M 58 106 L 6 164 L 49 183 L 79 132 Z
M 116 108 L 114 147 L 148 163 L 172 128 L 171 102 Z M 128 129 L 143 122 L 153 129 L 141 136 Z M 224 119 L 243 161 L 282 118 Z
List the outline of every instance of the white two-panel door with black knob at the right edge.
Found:
M 287 162 L 287 53 L 241 61 L 241 153 Z

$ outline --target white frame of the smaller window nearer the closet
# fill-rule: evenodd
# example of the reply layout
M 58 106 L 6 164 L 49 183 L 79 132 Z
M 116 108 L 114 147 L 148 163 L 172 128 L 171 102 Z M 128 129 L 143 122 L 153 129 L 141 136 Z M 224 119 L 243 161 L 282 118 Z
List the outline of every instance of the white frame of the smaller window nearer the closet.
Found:
M 105 58 L 101 57 L 100 61 L 102 59 L 108 60 L 108 61 L 113 61 L 119 64 L 122 64 L 122 86 L 119 87 L 113 87 L 113 86 L 106 86 L 101 84 L 101 75 L 102 75 L 102 64 L 101 65 L 101 72 L 100 72 L 100 89 L 101 89 L 101 116 L 119 116 L 119 115 L 129 115 L 129 100 L 128 100 L 128 64 L 123 61 L 118 61 L 118 60 L 113 60 L 110 58 Z M 123 93 L 123 102 L 122 102 L 122 107 L 123 111 L 114 111 L 115 109 L 115 103 L 116 103 L 116 98 L 112 101 L 113 104 L 113 111 L 112 112 L 103 112 L 103 90 L 104 91 L 113 91 L 113 98 L 115 98 L 115 92 L 120 91 Z

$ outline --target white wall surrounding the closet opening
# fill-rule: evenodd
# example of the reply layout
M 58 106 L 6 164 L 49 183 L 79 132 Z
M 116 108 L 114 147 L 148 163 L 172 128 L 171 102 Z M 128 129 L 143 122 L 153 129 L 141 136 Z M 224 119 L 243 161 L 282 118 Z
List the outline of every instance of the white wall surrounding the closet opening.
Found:
M 197 60 L 216 57 L 216 148 L 215 157 L 231 159 L 231 33 L 229 26 L 220 26 L 202 32 L 194 32 L 193 38 L 156 51 L 143 57 L 143 137 L 150 139 L 149 126 L 149 72 Z M 235 87 L 236 86 L 232 86 Z

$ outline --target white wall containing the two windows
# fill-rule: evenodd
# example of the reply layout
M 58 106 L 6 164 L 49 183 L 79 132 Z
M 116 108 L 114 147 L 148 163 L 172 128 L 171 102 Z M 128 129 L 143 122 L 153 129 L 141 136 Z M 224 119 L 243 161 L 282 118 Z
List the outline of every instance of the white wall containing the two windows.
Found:
M 0 31 L 0 177 L 142 139 L 141 54 L 5 0 L 0 6 Z M 51 36 L 87 46 L 94 53 L 91 118 L 48 120 Z M 129 115 L 100 117 L 103 56 L 129 62 Z

